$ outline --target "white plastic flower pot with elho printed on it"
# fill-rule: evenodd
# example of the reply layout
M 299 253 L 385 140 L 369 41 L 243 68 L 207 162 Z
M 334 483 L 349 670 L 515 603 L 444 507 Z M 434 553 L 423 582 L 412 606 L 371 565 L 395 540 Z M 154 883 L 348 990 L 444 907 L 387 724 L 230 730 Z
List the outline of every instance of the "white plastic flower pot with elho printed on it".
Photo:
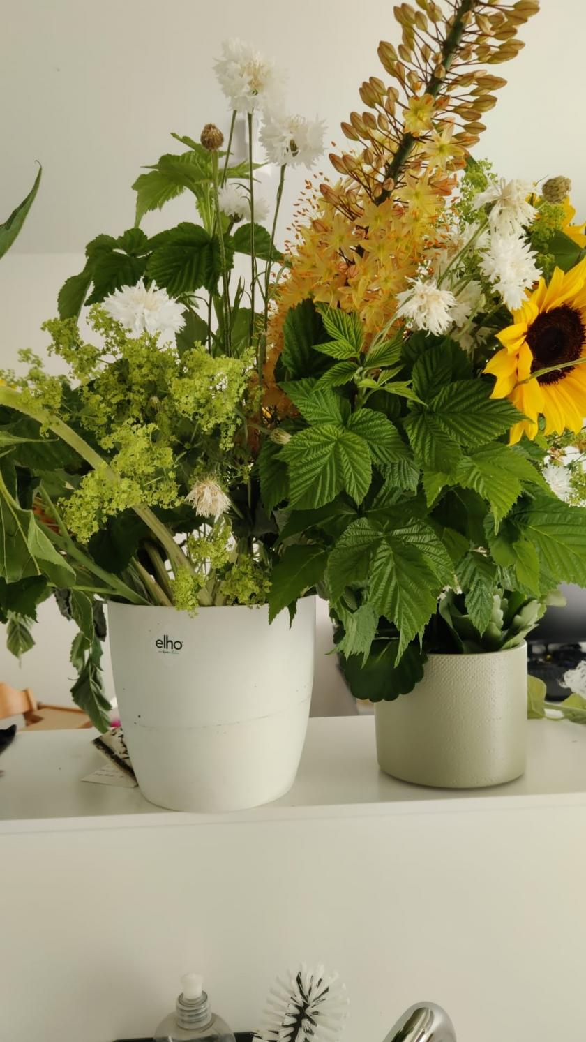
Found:
M 303 749 L 315 598 L 282 612 L 110 602 L 112 671 L 143 794 L 177 811 L 234 811 L 286 793 Z

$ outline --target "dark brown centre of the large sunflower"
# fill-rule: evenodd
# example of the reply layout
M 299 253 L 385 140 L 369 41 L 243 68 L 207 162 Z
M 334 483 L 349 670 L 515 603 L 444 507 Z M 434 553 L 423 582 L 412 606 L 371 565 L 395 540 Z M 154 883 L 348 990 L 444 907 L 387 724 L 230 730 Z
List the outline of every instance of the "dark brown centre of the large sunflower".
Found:
M 531 372 L 546 369 L 556 364 L 577 362 L 582 354 L 586 328 L 580 312 L 567 304 L 553 307 L 551 312 L 542 312 L 532 322 L 527 330 L 527 343 L 533 354 Z M 539 376 L 539 383 L 557 383 L 572 370 L 553 369 L 551 373 Z

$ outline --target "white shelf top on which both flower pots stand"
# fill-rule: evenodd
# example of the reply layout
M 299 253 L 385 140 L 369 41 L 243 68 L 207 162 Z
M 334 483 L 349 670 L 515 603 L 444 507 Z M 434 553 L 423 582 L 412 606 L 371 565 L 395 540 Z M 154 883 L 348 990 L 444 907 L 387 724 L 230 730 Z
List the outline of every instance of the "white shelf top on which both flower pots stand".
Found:
M 411 786 L 383 774 L 372 717 L 312 719 L 291 791 L 274 803 L 229 815 L 170 812 L 149 803 L 138 789 L 82 782 L 103 764 L 91 744 L 94 734 L 17 736 L 0 760 L 0 832 L 586 804 L 586 727 L 566 721 L 528 721 L 524 777 L 490 789 L 455 791 Z

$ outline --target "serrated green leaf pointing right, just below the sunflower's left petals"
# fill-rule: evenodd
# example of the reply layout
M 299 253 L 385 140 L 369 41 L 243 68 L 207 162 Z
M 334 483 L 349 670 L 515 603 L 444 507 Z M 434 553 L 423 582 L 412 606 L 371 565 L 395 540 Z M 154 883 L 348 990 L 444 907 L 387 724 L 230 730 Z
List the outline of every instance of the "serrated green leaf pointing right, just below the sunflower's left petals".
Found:
M 442 387 L 430 406 L 447 435 L 465 448 L 479 448 L 504 435 L 521 418 L 510 401 L 491 398 L 490 392 L 484 380 L 456 380 Z M 430 467 L 430 470 L 440 469 Z

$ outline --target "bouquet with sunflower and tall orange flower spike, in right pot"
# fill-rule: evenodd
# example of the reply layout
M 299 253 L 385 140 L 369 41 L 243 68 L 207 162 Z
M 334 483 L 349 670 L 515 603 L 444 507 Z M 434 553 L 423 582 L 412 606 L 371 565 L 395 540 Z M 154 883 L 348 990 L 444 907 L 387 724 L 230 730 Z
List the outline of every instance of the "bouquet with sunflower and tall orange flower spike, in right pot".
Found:
M 468 152 L 536 10 L 396 7 L 393 83 L 362 84 L 357 150 L 331 156 L 279 293 L 269 599 L 323 591 L 358 697 L 411 691 L 430 651 L 514 647 L 560 581 L 586 585 L 578 478 L 553 479 L 586 413 L 584 225 L 565 177 L 507 181 Z

